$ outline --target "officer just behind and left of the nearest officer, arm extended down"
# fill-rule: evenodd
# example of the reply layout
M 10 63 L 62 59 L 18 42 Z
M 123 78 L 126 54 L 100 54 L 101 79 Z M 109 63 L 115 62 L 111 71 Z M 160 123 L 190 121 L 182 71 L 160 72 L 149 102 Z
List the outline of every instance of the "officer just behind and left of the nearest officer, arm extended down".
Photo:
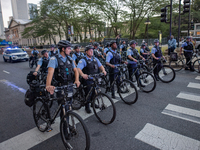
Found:
M 49 63 L 49 60 L 50 60 L 50 57 L 49 57 L 49 54 L 48 54 L 48 51 L 47 50 L 43 50 L 41 52 L 42 54 L 42 58 L 39 59 L 38 61 L 38 65 L 35 69 L 35 72 L 33 73 L 33 75 L 37 76 L 37 72 L 38 70 L 41 68 L 41 73 L 47 73 L 48 71 L 48 68 L 47 68 L 47 65 Z

